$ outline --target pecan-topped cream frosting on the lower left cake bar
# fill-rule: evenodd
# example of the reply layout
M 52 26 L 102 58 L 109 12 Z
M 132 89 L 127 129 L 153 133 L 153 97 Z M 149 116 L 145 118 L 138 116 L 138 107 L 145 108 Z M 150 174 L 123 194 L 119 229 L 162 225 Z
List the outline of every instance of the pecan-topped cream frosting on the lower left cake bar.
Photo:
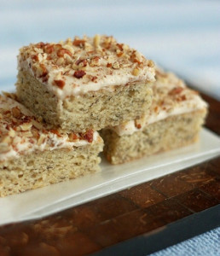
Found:
M 35 150 L 82 147 L 101 139 L 97 131 L 84 134 L 49 129 L 16 102 L 14 95 L 0 96 L 0 161 L 18 158 Z

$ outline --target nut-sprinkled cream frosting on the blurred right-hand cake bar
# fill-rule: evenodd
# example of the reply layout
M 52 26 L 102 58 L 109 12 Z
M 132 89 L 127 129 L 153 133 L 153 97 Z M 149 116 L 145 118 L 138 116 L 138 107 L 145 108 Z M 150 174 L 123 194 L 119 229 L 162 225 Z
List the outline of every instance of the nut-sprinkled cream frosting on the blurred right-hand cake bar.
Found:
M 178 79 L 173 73 L 165 73 L 157 68 L 156 82 L 153 83 L 153 103 L 146 115 L 142 119 L 130 120 L 111 129 L 119 136 L 131 135 L 142 131 L 146 125 L 172 115 L 206 108 L 207 103 L 197 91 L 190 90 L 182 79 Z

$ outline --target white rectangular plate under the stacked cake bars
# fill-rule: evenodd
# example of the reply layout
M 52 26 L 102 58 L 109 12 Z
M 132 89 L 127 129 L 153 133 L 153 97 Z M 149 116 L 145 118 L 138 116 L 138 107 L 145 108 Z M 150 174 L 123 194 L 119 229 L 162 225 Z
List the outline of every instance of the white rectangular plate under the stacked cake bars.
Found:
M 220 138 L 203 129 L 200 142 L 119 166 L 105 160 L 101 172 L 0 199 L 0 224 L 42 218 L 69 207 L 177 172 L 220 154 Z

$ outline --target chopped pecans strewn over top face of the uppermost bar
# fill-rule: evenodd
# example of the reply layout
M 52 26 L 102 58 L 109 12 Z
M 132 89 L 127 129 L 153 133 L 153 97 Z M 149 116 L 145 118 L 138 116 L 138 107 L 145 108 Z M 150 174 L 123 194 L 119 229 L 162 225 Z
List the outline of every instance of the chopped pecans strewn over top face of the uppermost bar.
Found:
M 122 70 L 121 75 L 124 76 L 126 73 L 133 73 L 135 67 L 142 71 L 144 68 L 149 69 L 148 66 L 151 65 L 150 61 L 135 49 L 131 49 L 126 44 L 119 44 L 112 36 L 99 35 L 94 38 L 75 37 L 73 40 L 67 38 L 59 44 L 30 44 L 20 49 L 20 63 L 27 59 L 31 59 L 27 65 L 30 64 L 34 76 L 41 82 L 48 83 L 49 86 L 55 84 L 54 80 L 61 79 L 57 78 L 56 74 L 62 72 L 62 79 L 66 83 L 65 90 L 68 88 L 67 83 L 73 83 L 72 76 L 81 79 L 85 75 L 84 72 L 87 75 L 96 74 L 97 79 L 94 81 L 98 82 L 106 79 L 107 76 L 119 73 L 117 69 Z M 107 67 L 113 69 L 109 70 Z M 134 75 L 137 75 L 136 73 L 134 71 Z M 142 74 L 145 73 L 142 72 Z M 149 80 L 153 78 L 149 76 Z M 84 79 L 84 84 L 87 82 L 89 83 L 90 79 Z M 61 82 L 55 85 L 62 87 Z M 72 86 L 72 90 L 81 85 L 83 86 L 78 81 Z

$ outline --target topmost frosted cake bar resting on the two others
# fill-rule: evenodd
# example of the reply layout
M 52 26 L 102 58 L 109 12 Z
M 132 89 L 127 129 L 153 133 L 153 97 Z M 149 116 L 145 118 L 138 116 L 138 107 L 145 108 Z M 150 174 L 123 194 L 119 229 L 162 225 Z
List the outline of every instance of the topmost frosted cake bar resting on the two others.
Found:
M 153 61 L 113 37 L 67 39 L 20 49 L 17 96 L 67 131 L 101 130 L 149 108 Z

